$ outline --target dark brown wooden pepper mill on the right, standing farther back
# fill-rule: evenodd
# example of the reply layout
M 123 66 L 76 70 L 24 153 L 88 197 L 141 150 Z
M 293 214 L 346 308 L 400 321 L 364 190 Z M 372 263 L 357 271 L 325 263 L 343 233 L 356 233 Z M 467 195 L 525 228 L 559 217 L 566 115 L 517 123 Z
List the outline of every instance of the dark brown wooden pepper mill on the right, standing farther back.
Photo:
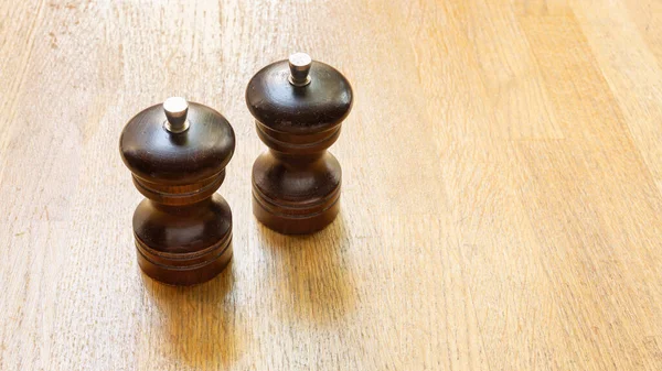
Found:
M 327 152 L 352 109 L 352 87 L 335 68 L 296 53 L 248 83 L 246 103 L 269 150 L 253 165 L 253 212 L 281 233 L 327 227 L 340 209 L 341 168 Z

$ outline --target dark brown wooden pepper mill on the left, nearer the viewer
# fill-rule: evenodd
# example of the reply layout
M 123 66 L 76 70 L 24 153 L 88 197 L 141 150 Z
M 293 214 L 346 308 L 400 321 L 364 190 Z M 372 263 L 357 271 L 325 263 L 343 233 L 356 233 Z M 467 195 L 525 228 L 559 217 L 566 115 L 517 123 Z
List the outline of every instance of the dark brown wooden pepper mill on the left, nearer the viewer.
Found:
M 138 263 L 150 277 L 192 285 L 232 258 L 232 214 L 216 194 L 235 135 L 215 110 L 180 97 L 149 107 L 124 128 L 119 152 L 147 197 L 134 212 Z

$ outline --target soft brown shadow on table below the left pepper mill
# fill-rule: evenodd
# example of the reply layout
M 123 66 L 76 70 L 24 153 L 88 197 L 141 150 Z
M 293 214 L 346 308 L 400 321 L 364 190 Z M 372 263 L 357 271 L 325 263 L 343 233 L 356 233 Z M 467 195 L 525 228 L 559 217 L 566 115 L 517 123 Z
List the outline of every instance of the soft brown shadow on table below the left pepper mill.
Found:
M 232 261 L 218 276 L 195 286 L 170 286 L 145 274 L 142 281 L 153 303 L 147 307 L 156 312 L 149 313 L 143 338 L 148 351 L 158 352 L 156 360 L 175 356 L 196 369 L 224 369 L 238 359 L 246 331 L 234 328 Z

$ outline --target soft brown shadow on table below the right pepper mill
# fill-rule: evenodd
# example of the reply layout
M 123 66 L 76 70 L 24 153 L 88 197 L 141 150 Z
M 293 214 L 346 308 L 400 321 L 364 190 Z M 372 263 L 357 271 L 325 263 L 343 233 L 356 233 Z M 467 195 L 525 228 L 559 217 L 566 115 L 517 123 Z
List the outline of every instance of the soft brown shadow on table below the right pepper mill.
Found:
M 356 291 L 344 260 L 350 245 L 342 212 L 321 231 L 286 236 L 259 225 L 261 249 L 278 264 L 276 301 L 281 315 L 332 325 L 355 309 Z

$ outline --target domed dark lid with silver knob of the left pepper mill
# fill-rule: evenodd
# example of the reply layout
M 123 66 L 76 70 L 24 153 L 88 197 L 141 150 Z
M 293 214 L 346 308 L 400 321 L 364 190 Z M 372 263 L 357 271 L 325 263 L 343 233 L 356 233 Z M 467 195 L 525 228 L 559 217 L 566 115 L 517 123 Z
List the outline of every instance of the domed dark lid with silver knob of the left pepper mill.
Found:
M 221 173 L 234 153 L 235 134 L 214 109 L 168 98 L 126 124 L 119 151 L 135 176 L 153 183 L 191 184 Z

